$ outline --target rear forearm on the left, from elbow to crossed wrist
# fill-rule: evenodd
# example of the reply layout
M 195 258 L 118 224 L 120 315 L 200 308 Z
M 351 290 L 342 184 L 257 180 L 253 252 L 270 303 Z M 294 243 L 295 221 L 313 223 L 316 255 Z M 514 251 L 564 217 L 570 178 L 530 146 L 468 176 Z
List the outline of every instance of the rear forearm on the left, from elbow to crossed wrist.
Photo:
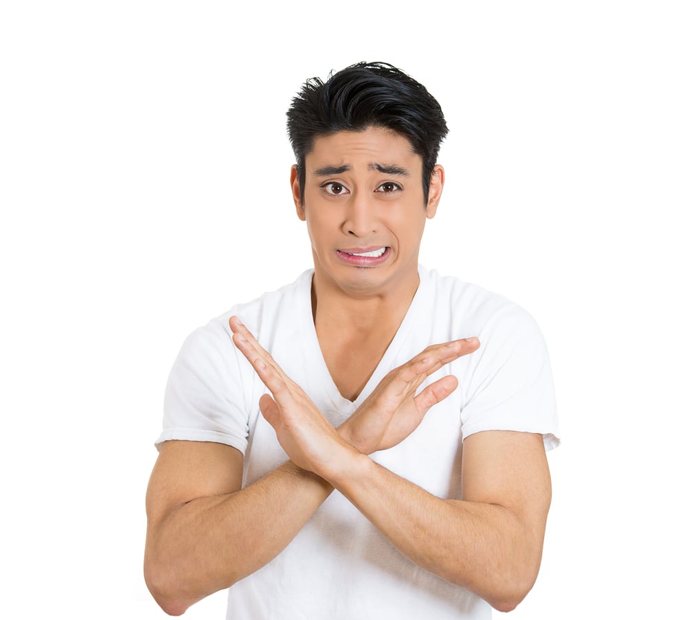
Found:
M 332 490 L 287 461 L 243 490 L 175 508 L 148 531 L 148 587 L 164 610 L 182 613 L 278 555 Z

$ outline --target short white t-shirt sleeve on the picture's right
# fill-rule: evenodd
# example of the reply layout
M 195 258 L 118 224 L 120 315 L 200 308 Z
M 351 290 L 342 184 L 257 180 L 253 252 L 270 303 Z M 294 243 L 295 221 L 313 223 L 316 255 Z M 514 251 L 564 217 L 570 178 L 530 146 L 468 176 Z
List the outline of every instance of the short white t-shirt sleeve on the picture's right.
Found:
M 494 312 L 478 335 L 481 345 L 472 360 L 461 411 L 463 437 L 482 430 L 518 430 L 541 433 L 545 448 L 556 448 L 556 398 L 539 325 L 525 310 L 508 303 Z

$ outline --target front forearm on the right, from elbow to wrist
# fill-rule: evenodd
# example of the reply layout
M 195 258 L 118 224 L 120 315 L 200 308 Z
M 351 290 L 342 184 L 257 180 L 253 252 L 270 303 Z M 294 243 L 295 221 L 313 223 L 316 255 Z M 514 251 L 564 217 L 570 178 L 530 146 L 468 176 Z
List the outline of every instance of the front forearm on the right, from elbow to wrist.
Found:
M 541 546 L 500 505 L 433 496 L 357 455 L 331 482 L 410 560 L 499 610 L 532 587 Z M 329 474 L 331 476 L 331 474 Z

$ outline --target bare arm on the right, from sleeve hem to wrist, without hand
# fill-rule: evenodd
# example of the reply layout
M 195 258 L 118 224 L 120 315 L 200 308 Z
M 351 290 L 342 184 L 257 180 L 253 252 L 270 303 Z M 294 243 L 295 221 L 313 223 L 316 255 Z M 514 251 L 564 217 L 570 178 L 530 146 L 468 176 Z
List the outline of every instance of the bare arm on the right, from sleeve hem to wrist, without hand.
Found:
M 541 435 L 468 437 L 463 501 L 433 496 L 352 452 L 322 474 L 399 551 L 494 608 L 512 610 L 532 588 L 551 496 Z

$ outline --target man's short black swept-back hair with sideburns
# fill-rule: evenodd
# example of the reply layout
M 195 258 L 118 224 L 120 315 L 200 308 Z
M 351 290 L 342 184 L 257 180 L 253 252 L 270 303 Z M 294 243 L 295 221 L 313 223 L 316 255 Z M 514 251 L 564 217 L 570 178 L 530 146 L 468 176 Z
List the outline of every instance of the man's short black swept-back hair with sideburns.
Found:
M 425 204 L 442 140 L 449 133 L 444 113 L 427 89 L 386 62 L 357 62 L 326 82 L 310 78 L 286 113 L 298 181 L 305 187 L 305 157 L 316 137 L 339 131 L 390 129 L 405 137 L 423 160 Z

